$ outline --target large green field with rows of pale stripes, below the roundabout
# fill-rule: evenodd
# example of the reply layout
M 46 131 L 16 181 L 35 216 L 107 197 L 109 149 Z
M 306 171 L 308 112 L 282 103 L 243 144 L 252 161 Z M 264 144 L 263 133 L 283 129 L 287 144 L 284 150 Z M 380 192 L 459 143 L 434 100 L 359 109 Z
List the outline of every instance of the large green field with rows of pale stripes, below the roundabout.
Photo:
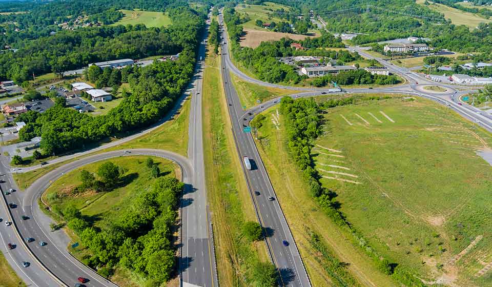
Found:
M 379 254 L 428 281 L 492 284 L 492 166 L 475 153 L 492 147 L 489 133 L 422 98 L 333 108 L 325 120 L 316 169 Z

